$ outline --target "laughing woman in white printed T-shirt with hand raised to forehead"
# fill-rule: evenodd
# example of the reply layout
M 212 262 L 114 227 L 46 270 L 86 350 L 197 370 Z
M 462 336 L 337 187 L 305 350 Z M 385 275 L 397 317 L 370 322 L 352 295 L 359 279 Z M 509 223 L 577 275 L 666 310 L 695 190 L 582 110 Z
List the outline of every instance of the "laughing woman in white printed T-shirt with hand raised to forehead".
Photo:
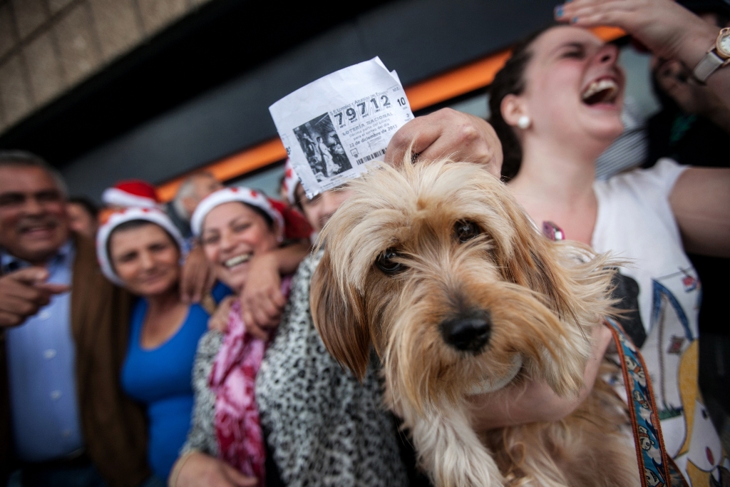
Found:
M 583 26 L 616 20 L 688 66 L 718 36 L 669 0 L 575 0 L 556 15 Z M 728 100 L 730 68 L 723 69 L 707 85 Z M 624 85 L 615 46 L 585 28 L 555 26 L 515 47 L 496 75 L 491 123 L 504 147 L 502 175 L 538 226 L 631 261 L 620 269 L 619 288 L 634 310 L 624 326 L 658 394 L 667 453 L 693 485 L 708 485 L 730 460 L 699 394 L 700 285 L 685 249 L 730 256 L 730 170 L 661 159 L 595 182 L 596 158 L 623 130 Z M 486 399 L 483 406 L 504 408 Z

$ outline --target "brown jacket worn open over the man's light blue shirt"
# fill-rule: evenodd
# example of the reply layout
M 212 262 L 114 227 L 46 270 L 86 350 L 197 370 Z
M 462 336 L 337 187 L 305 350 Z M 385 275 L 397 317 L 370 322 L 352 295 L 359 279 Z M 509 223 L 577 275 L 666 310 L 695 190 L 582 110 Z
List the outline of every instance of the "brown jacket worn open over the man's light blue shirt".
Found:
M 86 452 L 110 487 L 134 487 L 150 475 L 144 411 L 120 386 L 131 296 L 101 274 L 93 242 L 74 236 L 71 328 L 76 385 Z M 11 464 L 7 356 L 0 332 L 0 485 Z

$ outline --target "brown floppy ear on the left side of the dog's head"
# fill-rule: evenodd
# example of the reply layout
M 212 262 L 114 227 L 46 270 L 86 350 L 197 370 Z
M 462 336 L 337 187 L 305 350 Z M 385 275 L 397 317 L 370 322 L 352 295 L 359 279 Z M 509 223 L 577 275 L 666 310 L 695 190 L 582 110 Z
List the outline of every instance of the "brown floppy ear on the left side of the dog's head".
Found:
M 362 297 L 353 288 L 347 294 L 343 295 L 325 250 L 312 276 L 312 320 L 329 353 L 363 380 L 370 358 L 370 334 Z

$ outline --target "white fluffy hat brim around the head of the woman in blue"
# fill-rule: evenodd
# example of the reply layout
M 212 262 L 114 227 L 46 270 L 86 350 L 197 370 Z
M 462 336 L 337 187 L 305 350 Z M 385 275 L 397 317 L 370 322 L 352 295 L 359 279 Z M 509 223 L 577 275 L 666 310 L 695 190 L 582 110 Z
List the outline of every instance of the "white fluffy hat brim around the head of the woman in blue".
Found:
M 124 283 L 117 273 L 114 272 L 112 261 L 107 253 L 107 242 L 115 228 L 122 223 L 133 220 L 145 220 L 161 226 L 162 229 L 170 234 L 175 243 L 177 243 L 177 248 L 180 249 L 181 255 L 185 253 L 186 247 L 183 235 L 180 234 L 180 230 L 177 229 L 177 226 L 172 223 L 172 220 L 164 212 L 156 208 L 127 208 L 120 212 L 114 212 L 109 217 L 109 220 L 107 220 L 107 223 L 104 223 L 96 233 L 96 258 L 99 260 L 101 272 L 104 272 L 107 279 L 116 285 L 124 285 Z

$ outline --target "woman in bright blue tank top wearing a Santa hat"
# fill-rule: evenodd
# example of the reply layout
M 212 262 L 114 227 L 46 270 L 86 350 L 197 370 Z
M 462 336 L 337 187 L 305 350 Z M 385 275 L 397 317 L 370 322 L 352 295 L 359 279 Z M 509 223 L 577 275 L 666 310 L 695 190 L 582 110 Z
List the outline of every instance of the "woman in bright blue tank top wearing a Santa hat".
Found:
M 183 248 L 163 212 L 140 208 L 112 215 L 96 242 L 104 274 L 139 296 L 121 380 L 147 409 L 147 459 L 160 485 L 190 429 L 193 358 L 209 318 L 199 304 L 180 300 Z

